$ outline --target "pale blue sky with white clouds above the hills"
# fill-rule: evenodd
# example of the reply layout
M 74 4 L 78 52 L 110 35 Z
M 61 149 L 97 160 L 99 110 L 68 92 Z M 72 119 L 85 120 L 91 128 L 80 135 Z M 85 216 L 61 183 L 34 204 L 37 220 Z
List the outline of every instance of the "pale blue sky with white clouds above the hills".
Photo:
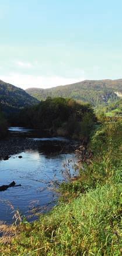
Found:
M 121 0 L 0 0 L 0 79 L 50 88 L 122 78 Z

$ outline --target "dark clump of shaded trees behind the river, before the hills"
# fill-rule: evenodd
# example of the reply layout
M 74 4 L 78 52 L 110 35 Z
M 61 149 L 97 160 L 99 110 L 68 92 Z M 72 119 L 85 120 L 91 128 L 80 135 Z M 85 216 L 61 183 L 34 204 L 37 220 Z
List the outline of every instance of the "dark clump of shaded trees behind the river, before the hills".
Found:
M 47 98 L 38 105 L 12 116 L 12 124 L 49 132 L 50 136 L 69 136 L 87 140 L 96 117 L 89 104 L 73 99 Z

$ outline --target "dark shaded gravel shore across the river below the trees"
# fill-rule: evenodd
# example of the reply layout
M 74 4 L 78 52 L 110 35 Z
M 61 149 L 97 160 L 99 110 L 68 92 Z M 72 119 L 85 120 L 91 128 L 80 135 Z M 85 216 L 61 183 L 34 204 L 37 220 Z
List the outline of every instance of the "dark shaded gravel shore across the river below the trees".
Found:
M 73 152 L 79 143 L 74 141 L 39 141 L 22 137 L 8 137 L 0 140 L 0 160 L 9 158 L 11 155 L 25 152 L 26 150 L 40 150 L 47 153 L 51 152 Z M 7 160 L 7 159 L 5 159 Z

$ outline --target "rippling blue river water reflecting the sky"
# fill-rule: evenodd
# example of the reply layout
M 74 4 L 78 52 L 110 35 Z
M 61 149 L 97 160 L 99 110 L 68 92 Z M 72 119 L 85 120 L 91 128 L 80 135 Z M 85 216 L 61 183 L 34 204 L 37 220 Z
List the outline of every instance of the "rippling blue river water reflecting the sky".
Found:
M 26 131 L 23 127 L 11 127 L 11 132 L 21 133 Z M 32 140 L 32 137 L 30 138 Z M 33 138 L 33 140 L 55 141 L 60 143 L 64 138 Z M 19 158 L 19 155 L 22 158 Z M 72 160 L 70 164 L 71 173 L 73 174 L 76 159 L 75 154 L 59 153 L 50 151 L 41 151 L 41 147 L 37 150 L 26 150 L 25 152 L 12 155 L 9 160 L 0 161 L 0 186 L 15 181 L 16 184 L 22 186 L 8 188 L 6 191 L 0 192 L 0 220 L 6 223 L 14 221 L 13 215 L 19 210 L 23 216 L 32 216 L 32 209 L 36 209 L 36 213 L 49 210 L 57 204 L 58 195 L 52 187 L 52 181 L 61 182 L 64 177 L 62 171 L 64 164 Z M 33 220 L 35 217 L 30 217 Z

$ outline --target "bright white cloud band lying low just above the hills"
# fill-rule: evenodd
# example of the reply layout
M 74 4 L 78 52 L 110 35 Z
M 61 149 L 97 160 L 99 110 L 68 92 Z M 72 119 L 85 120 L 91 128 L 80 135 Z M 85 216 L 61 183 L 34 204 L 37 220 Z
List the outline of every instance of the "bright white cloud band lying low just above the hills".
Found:
M 44 77 L 39 75 L 11 73 L 8 75 L 0 75 L 0 79 L 17 87 L 27 89 L 29 87 L 51 88 L 58 85 L 73 84 L 74 82 L 83 81 L 85 78 L 83 76 L 78 78 L 65 78 L 59 76 Z

